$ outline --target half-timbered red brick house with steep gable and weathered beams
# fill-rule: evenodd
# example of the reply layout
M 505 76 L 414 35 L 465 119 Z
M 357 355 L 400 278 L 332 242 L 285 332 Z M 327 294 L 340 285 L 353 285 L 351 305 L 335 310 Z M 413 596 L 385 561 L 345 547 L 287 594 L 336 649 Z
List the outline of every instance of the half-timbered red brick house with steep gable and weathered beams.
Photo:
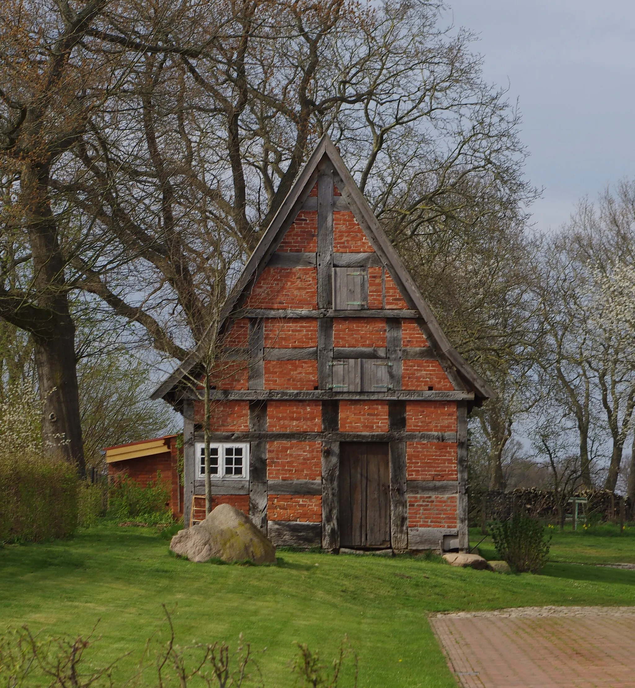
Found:
M 467 416 L 493 396 L 453 349 L 325 137 L 218 323 L 213 506 L 278 545 L 465 549 Z M 184 513 L 204 494 L 201 353 L 155 391 L 184 417 Z M 191 518 L 191 516 L 190 516 Z

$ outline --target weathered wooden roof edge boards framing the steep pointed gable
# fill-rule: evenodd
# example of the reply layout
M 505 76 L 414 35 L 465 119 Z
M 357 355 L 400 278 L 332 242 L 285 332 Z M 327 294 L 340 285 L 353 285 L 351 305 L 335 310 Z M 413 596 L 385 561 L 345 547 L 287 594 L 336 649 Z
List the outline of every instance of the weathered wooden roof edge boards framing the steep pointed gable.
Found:
M 467 387 L 473 389 L 477 404 L 496 396 L 496 392 L 492 387 L 465 361 L 445 336 L 430 306 L 422 297 L 408 270 L 379 224 L 378 219 L 358 189 L 338 150 L 326 135 L 321 138 L 312 155 L 297 175 L 294 184 L 272 219 L 271 224 L 263 233 L 252 255 L 250 255 L 244 270 L 241 272 L 237 283 L 228 295 L 219 314 L 217 332 L 224 331 L 228 317 L 239 303 L 239 300 L 245 294 L 248 294 L 250 288 L 255 284 L 262 270 L 268 264 L 270 257 L 279 246 L 283 236 L 313 188 L 317 180 L 319 167 L 324 158 L 327 158 L 332 164 L 338 190 L 349 205 L 350 210 L 363 232 L 367 235 L 385 268 L 387 268 L 396 282 L 402 295 L 407 299 L 409 298 L 414 308 L 420 312 L 425 323 L 425 330 L 427 330 L 425 334 L 429 344 L 440 358 L 440 361 L 444 361 L 451 368 L 455 369 L 462 382 Z M 200 352 L 205 350 L 206 338 L 204 336 L 191 354 L 155 389 L 153 394 L 151 394 L 152 399 L 163 398 L 171 403 L 175 401 L 177 387 L 182 384 L 182 380 L 186 376 L 191 377 L 193 375 L 192 371 L 202 357 Z

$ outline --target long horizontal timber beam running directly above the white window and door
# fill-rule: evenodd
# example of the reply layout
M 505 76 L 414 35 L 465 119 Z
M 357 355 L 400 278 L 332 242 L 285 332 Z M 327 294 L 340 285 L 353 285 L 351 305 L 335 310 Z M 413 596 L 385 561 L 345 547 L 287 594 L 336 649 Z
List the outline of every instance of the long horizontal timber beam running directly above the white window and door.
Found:
M 213 432 L 211 442 L 456 442 L 453 432 Z M 195 435 L 203 441 L 203 433 Z

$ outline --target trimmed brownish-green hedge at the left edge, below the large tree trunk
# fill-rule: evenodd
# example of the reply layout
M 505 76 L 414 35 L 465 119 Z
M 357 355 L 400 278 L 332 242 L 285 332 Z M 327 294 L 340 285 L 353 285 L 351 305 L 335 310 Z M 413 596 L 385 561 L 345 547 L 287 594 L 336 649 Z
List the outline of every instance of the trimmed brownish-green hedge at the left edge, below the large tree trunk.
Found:
M 77 526 L 74 466 L 41 453 L 0 455 L 0 542 L 69 537 Z

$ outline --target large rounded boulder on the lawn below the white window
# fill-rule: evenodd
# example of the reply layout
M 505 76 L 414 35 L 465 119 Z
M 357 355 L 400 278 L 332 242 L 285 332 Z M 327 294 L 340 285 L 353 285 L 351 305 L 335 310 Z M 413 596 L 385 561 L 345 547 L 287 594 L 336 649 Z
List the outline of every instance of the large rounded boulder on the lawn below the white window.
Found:
M 276 548 L 237 508 L 219 504 L 206 519 L 180 530 L 170 541 L 170 549 L 190 561 L 209 559 L 275 563 Z

